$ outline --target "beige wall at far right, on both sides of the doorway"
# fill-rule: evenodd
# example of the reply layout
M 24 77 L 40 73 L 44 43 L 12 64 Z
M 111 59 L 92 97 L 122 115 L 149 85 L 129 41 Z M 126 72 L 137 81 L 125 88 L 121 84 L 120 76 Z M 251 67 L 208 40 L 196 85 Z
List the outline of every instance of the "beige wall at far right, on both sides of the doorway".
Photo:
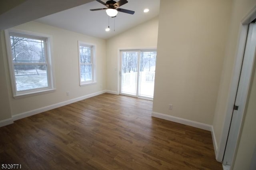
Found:
M 226 54 L 222 69 L 222 78 L 218 91 L 218 102 L 214 115 L 214 132 L 217 144 L 220 144 L 222 129 L 227 112 L 228 97 L 230 93 L 231 79 L 234 69 L 234 61 L 236 57 L 238 36 L 240 34 L 240 24 L 242 19 L 250 12 L 256 5 L 255 0 L 234 0 L 232 4 L 232 14 L 229 26 L 229 38 L 226 45 Z M 246 104 L 246 112 L 244 117 L 244 124 L 242 125 L 242 132 L 240 140 L 238 141 L 238 150 L 235 156 L 234 170 L 248 170 L 252 159 L 254 148 L 256 147 L 256 74 L 254 71 L 254 78 L 252 79 L 251 90 L 248 95 L 248 102 Z

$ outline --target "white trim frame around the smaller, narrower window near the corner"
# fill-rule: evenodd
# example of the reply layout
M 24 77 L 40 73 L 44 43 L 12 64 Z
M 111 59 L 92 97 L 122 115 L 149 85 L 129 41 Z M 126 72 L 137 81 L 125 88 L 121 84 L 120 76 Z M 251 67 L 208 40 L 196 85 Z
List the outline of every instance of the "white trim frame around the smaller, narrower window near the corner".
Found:
M 90 81 L 81 81 L 80 45 L 92 47 L 92 80 L 90 80 Z M 80 86 L 94 85 L 97 83 L 97 81 L 96 81 L 96 45 L 95 44 L 78 41 L 78 70 L 79 70 L 79 85 Z

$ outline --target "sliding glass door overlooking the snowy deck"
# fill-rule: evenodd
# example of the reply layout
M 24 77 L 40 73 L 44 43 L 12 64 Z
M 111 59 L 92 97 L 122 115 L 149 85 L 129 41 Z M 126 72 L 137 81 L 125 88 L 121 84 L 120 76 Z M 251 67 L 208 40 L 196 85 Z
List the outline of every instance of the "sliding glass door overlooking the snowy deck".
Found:
M 120 93 L 153 99 L 156 50 L 121 51 Z

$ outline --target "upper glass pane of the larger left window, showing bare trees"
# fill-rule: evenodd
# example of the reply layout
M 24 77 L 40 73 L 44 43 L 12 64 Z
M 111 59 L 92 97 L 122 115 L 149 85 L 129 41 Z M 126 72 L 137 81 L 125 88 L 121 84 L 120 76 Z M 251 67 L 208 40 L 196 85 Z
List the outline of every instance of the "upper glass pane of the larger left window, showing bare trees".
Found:
M 45 63 L 44 40 L 10 36 L 13 63 Z

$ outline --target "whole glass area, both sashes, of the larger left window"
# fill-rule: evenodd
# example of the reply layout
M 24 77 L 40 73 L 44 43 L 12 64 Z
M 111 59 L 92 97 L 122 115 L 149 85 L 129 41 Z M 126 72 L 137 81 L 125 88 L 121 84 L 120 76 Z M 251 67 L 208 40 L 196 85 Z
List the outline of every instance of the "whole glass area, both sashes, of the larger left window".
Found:
M 44 40 L 10 36 L 17 91 L 48 87 Z

